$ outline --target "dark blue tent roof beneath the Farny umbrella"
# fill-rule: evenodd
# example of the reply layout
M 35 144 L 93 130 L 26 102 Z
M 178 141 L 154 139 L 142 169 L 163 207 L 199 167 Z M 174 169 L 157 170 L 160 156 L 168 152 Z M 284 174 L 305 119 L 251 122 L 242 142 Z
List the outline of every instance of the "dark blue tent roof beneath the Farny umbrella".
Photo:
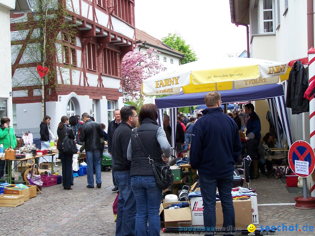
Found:
M 157 108 L 187 107 L 204 104 L 204 96 L 208 92 L 186 93 L 180 92 L 163 98 L 155 99 Z M 254 101 L 267 98 L 283 96 L 281 84 L 266 84 L 240 89 L 219 91 L 223 103 L 234 103 L 243 101 Z

